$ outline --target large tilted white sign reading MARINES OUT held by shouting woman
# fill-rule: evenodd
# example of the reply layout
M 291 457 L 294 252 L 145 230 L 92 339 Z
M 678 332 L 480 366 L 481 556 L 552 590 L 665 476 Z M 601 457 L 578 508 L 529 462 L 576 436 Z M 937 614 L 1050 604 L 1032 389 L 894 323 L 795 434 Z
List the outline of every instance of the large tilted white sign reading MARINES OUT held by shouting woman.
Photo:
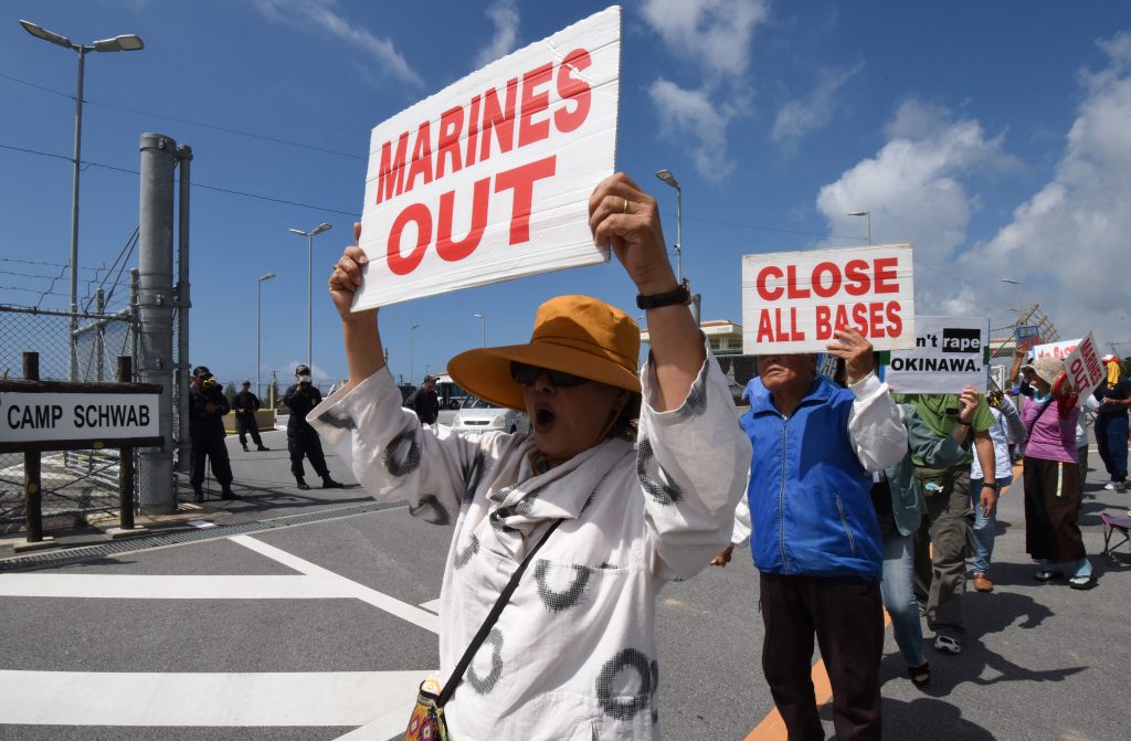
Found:
M 375 127 L 353 310 L 607 260 L 589 195 L 613 173 L 620 67 L 612 7 Z

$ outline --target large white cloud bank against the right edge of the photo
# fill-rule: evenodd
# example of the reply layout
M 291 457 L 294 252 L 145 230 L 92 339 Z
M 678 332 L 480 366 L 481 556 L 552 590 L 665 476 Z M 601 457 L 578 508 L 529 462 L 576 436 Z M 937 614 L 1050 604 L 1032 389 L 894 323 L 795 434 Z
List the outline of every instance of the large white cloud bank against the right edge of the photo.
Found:
M 1021 281 L 1025 302 L 1039 303 L 1061 336 L 1095 330 L 1100 343 L 1131 342 L 1123 269 L 1131 234 L 1131 34 L 1098 46 L 1110 63 L 1080 76 L 1085 95 L 1052 180 L 961 265 L 987 281 Z

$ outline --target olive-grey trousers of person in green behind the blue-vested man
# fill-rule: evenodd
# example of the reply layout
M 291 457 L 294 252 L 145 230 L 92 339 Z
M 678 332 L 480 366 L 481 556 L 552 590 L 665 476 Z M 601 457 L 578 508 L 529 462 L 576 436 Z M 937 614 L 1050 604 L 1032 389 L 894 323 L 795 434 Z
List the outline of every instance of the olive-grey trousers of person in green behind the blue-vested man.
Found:
M 915 533 L 915 594 L 926 602 L 926 624 L 934 632 L 958 638 L 966 592 L 966 559 L 974 554 L 974 508 L 970 473 L 955 479 L 950 491 L 926 500 L 927 516 Z M 929 550 L 934 545 L 932 555 Z

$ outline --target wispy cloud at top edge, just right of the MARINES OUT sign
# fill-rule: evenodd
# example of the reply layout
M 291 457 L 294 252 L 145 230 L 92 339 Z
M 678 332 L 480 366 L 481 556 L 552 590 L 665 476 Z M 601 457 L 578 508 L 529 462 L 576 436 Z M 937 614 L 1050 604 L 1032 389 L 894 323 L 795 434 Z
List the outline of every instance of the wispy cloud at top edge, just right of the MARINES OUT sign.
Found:
M 698 88 L 663 77 L 649 86 L 661 136 L 689 149 L 699 174 L 719 180 L 733 170 L 726 129 L 745 110 L 751 38 L 769 19 L 769 2 L 646 0 L 640 12 L 673 55 L 702 74 Z

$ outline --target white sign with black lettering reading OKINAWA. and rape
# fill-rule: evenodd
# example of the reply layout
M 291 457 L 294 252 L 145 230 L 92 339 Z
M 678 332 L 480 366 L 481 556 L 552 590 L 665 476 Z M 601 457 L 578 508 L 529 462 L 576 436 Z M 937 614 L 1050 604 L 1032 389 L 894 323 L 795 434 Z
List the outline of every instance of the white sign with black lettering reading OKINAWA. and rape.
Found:
M 915 317 L 915 348 L 892 351 L 883 380 L 904 394 L 985 394 L 988 339 L 986 317 Z

